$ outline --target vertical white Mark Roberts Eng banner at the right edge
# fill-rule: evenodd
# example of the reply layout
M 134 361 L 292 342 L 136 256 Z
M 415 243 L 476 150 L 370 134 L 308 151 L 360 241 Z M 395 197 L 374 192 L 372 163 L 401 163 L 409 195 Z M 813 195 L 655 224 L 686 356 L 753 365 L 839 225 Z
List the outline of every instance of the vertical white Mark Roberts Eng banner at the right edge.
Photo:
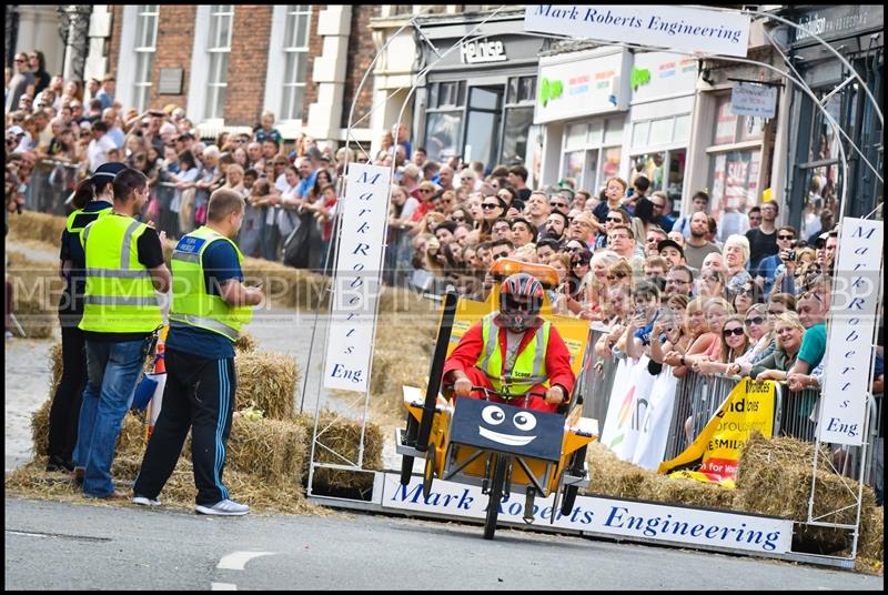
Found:
M 864 441 L 884 225 L 866 219 L 841 221 L 817 424 L 824 442 L 860 445 Z

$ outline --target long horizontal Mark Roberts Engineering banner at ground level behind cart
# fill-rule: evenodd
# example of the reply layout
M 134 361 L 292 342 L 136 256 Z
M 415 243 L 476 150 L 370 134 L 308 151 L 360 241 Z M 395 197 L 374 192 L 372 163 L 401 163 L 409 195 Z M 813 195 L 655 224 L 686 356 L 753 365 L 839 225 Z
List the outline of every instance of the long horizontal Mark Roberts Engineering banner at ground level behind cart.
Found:
M 788 552 L 793 541 L 793 521 L 783 518 L 591 496 L 577 496 L 571 514 L 563 515 L 553 510 L 553 498 L 536 497 L 535 524 L 549 526 L 555 514 L 554 526 L 585 533 L 769 554 Z M 504 497 L 500 503 L 500 522 L 526 526 L 522 521 L 524 500 L 517 491 Z M 428 498 L 423 498 L 422 477 L 413 477 L 403 486 L 398 474 L 386 473 L 381 504 L 427 514 L 484 518 L 487 502 L 480 486 L 442 480 L 435 480 Z

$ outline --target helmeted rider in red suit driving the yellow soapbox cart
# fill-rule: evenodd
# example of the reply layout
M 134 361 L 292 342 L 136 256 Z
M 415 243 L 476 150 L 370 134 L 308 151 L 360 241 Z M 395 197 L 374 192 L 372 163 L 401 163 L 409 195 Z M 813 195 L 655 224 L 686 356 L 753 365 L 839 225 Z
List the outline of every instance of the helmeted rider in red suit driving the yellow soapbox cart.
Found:
M 558 331 L 539 317 L 542 304 L 543 285 L 536 279 L 527 273 L 507 278 L 500 288 L 500 311 L 473 324 L 444 362 L 444 386 L 484 399 L 472 386 L 504 392 L 511 382 L 515 394 L 527 389 L 545 393 L 545 399 L 532 396 L 527 409 L 555 412 L 567 403 L 575 382 L 571 353 Z M 524 406 L 524 399 L 491 395 L 491 401 Z

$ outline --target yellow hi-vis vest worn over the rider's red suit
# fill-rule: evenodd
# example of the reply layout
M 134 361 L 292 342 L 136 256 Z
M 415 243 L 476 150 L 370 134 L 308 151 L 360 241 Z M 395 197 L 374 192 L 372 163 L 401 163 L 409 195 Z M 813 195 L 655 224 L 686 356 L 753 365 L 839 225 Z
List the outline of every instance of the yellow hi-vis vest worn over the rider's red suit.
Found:
M 500 349 L 500 327 L 493 320 L 496 313 L 487 314 L 482 320 L 482 339 L 484 349 L 478 355 L 475 366 L 487 374 L 487 379 L 497 392 L 512 394 L 526 393 L 536 384 L 546 383 L 546 349 L 548 347 L 548 333 L 552 324 L 544 322 L 535 336 L 524 346 L 512 370 L 503 371 L 503 353 Z

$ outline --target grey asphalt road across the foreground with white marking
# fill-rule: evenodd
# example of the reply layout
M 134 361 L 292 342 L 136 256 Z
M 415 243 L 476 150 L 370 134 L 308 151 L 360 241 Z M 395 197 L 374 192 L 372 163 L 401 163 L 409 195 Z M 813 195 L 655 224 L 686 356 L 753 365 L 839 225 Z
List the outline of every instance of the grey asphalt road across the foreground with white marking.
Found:
M 882 577 L 477 525 L 6 500 L 7 589 L 881 591 Z

